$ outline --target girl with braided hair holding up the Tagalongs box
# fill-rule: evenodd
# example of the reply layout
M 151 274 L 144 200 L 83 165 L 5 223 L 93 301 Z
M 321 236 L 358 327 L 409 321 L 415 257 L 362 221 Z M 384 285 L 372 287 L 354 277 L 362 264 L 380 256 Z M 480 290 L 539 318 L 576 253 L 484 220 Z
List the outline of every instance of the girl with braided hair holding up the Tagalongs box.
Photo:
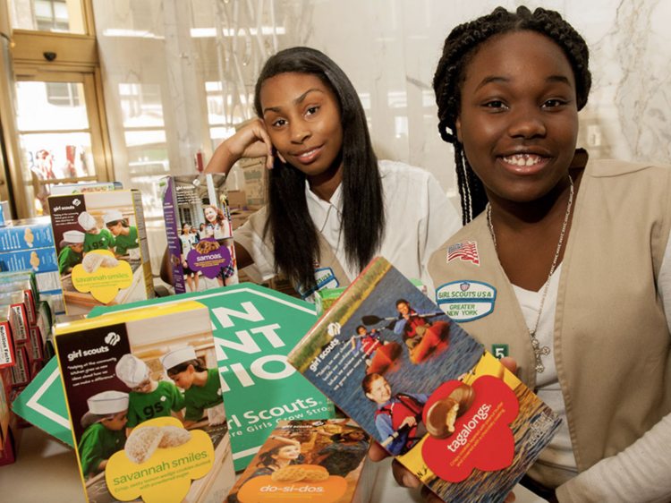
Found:
M 499 7 L 452 31 L 434 88 L 470 223 L 429 274 L 437 299 L 454 282 L 496 292 L 463 328 L 507 345 L 564 419 L 527 487 L 562 503 L 669 501 L 671 169 L 576 153 L 590 84 L 588 47 L 559 13 Z M 466 242 L 477 266 L 450 258 Z

